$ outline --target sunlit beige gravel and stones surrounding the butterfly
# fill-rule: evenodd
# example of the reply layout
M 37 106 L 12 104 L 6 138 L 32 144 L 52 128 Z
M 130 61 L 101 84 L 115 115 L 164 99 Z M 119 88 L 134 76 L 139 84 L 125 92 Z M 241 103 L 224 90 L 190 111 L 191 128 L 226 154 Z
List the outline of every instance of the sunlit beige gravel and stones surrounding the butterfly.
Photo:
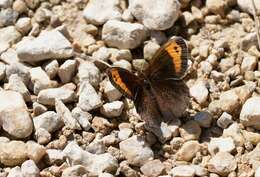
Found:
M 0 0 L 0 177 L 260 177 L 254 1 Z M 190 105 L 158 138 L 97 60 L 140 71 L 172 36 Z

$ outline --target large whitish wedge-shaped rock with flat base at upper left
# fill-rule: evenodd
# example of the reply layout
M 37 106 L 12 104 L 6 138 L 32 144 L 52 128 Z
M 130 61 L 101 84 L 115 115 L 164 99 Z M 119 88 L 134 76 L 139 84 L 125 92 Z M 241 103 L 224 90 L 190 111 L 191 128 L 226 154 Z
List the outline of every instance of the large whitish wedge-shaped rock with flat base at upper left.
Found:
M 57 30 L 46 31 L 39 37 L 23 39 L 17 44 L 20 61 L 35 62 L 73 56 L 71 43 Z

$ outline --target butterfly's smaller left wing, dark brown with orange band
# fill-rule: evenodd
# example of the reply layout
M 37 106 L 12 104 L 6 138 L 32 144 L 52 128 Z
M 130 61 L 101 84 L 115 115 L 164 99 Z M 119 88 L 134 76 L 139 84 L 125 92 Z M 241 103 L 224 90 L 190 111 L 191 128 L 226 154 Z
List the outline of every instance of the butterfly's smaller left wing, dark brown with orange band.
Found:
M 107 74 L 114 87 L 116 87 L 124 96 L 134 99 L 138 89 L 142 86 L 142 79 L 130 71 L 120 68 L 108 68 Z

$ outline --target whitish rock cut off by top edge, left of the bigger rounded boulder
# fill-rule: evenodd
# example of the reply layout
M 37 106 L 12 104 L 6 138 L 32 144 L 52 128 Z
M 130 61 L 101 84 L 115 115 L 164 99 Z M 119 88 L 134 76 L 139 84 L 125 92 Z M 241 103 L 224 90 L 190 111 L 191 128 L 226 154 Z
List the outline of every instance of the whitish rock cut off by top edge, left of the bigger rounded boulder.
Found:
M 83 11 L 85 19 L 94 25 L 102 25 L 112 19 L 120 20 L 121 15 L 120 0 L 91 0 Z

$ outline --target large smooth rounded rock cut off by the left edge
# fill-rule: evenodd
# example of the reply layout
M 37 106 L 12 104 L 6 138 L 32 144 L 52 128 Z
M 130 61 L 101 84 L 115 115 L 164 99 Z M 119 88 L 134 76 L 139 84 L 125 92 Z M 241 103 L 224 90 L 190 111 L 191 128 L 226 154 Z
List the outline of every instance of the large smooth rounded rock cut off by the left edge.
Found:
M 0 100 L 3 129 L 16 138 L 31 135 L 33 123 L 22 95 L 14 91 L 0 91 Z

